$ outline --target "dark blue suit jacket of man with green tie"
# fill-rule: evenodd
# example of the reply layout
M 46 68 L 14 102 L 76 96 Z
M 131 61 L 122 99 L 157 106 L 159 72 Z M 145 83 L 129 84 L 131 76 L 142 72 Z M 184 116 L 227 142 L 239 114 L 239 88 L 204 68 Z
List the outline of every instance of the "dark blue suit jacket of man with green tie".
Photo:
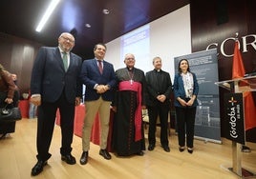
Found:
M 57 47 L 40 48 L 32 68 L 32 94 L 41 94 L 42 101 L 53 103 L 64 89 L 67 100 L 75 104 L 75 97 L 82 96 L 82 85 L 79 80 L 81 65 L 81 58 L 70 53 L 70 66 L 65 71 Z

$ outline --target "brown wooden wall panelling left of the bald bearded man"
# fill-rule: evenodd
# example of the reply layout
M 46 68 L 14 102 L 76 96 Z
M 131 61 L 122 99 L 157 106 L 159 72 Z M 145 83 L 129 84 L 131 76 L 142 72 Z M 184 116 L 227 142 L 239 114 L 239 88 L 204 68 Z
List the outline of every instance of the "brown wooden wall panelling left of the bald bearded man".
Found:
M 30 89 L 33 60 L 41 46 L 26 39 L 0 33 L 0 63 L 6 70 L 17 74 L 17 86 L 21 94 Z

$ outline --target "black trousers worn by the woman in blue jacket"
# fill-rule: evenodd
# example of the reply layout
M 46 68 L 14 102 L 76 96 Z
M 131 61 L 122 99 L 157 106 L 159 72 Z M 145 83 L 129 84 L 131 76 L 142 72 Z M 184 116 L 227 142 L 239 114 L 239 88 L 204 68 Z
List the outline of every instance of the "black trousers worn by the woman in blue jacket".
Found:
M 186 146 L 193 148 L 194 146 L 194 129 L 195 129 L 195 117 L 197 108 L 179 108 L 176 107 L 176 119 L 178 127 L 178 140 L 179 146 Z

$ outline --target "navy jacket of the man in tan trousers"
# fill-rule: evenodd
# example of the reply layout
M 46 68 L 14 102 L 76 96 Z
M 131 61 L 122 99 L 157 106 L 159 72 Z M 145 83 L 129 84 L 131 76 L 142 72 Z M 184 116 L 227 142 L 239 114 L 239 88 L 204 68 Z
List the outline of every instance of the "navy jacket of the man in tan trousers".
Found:
M 100 74 L 96 59 L 84 60 L 81 70 L 81 81 L 86 86 L 85 101 L 97 100 L 101 95 L 105 101 L 113 101 L 116 90 L 117 79 L 112 64 L 103 61 L 103 72 Z M 98 94 L 94 87 L 98 85 L 109 85 L 110 89 L 102 94 Z

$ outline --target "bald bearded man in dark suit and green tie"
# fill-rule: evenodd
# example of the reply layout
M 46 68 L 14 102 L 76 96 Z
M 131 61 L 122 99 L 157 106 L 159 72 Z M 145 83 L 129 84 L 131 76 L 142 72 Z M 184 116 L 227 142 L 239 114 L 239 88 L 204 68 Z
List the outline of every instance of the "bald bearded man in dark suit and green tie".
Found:
M 32 175 L 39 174 L 51 157 L 49 148 L 53 137 L 56 110 L 60 111 L 62 134 L 60 154 L 67 164 L 74 165 L 71 145 L 73 142 L 75 105 L 80 104 L 82 86 L 79 73 L 82 60 L 70 52 L 75 38 L 63 32 L 58 38 L 58 47 L 42 47 L 38 50 L 32 68 L 31 102 L 38 106 L 37 118 L 37 163 Z M 65 57 L 66 55 L 66 57 Z M 66 67 L 64 67 L 66 60 Z

